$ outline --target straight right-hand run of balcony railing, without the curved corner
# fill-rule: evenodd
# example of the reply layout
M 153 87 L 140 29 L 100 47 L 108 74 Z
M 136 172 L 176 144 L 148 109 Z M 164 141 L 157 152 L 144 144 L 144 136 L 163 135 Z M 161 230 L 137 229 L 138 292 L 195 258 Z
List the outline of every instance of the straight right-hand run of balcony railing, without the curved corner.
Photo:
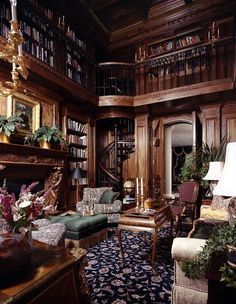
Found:
M 232 77 L 233 38 L 186 48 L 136 65 L 136 95 Z

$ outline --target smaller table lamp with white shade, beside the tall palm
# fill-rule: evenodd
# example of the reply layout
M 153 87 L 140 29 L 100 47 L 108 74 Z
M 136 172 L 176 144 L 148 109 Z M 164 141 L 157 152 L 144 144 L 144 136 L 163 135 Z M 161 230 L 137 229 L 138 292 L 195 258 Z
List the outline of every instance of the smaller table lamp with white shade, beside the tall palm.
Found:
M 224 167 L 224 162 L 222 161 L 214 161 L 209 163 L 209 169 L 206 176 L 203 177 L 204 180 L 209 180 L 209 189 L 206 192 L 206 197 L 213 196 L 213 190 L 217 185 L 218 180 L 221 178 L 222 171 Z

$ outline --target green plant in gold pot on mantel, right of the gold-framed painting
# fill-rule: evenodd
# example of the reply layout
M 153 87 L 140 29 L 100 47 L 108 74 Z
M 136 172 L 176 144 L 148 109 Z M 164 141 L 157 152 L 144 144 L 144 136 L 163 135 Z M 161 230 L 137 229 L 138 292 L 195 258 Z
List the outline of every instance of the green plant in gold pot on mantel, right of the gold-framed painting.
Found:
M 44 125 L 34 132 L 34 139 L 39 142 L 41 148 L 50 149 L 54 148 L 65 142 L 63 133 L 55 125 L 49 127 Z

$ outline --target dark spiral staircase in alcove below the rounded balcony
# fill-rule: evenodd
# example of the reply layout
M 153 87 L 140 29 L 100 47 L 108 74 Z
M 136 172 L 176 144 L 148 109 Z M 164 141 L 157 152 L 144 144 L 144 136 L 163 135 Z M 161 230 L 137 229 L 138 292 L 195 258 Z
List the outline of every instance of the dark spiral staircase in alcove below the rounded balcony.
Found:
M 120 190 L 123 184 L 123 162 L 134 152 L 134 121 L 122 119 L 122 124 L 114 120 L 113 140 L 98 152 L 99 186 L 115 186 Z

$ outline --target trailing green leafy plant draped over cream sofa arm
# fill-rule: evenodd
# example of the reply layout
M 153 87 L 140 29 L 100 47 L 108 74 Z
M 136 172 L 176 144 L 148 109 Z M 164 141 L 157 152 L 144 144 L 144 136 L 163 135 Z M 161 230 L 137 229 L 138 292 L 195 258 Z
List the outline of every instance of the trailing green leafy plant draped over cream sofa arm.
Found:
M 207 240 L 201 252 L 197 253 L 192 260 L 183 260 L 181 268 L 186 277 L 199 279 L 207 270 L 212 257 L 225 257 L 227 245 L 236 244 L 236 222 L 233 225 L 225 225 L 213 232 Z M 221 280 L 228 286 L 236 287 L 236 273 L 227 264 L 220 268 Z

